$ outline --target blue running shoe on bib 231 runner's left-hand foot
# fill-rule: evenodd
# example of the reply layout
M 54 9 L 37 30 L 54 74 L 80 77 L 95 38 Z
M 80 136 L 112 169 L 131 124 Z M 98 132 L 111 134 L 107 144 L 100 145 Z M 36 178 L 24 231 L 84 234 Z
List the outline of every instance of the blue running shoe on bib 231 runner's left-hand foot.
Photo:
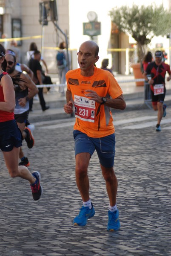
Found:
M 87 224 L 88 218 L 91 218 L 94 216 L 95 210 L 92 203 L 91 203 L 91 206 L 92 206 L 91 209 L 84 206 L 81 207 L 79 215 L 77 215 L 77 217 L 75 217 L 73 220 L 73 224 L 75 226 L 76 225 L 85 226 Z

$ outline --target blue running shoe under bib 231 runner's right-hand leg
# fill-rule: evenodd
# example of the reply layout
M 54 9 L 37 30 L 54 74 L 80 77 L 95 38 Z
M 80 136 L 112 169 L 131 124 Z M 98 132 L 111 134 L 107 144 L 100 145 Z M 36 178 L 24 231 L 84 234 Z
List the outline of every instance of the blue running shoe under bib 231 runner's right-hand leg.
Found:
M 119 221 L 119 211 L 111 212 L 108 211 L 108 231 L 116 231 L 120 228 L 120 221 Z

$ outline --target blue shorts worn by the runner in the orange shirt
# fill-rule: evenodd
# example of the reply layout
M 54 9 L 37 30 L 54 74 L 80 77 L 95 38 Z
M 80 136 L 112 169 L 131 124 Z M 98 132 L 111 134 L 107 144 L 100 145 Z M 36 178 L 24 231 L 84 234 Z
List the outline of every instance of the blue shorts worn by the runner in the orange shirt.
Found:
M 75 140 L 75 156 L 85 152 L 88 152 L 92 156 L 96 150 L 102 166 L 105 168 L 114 166 L 115 134 L 102 138 L 92 138 L 81 131 L 74 130 L 73 135 Z

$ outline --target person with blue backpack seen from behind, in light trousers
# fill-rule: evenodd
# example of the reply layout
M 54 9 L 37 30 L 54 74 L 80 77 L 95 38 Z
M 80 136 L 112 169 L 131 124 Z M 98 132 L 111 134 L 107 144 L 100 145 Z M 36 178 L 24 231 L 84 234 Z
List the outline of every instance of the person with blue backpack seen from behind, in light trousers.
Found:
M 66 84 L 66 73 L 69 70 L 68 63 L 67 63 L 67 54 L 66 54 L 66 43 L 63 41 L 59 45 L 59 51 L 56 55 L 56 61 L 57 61 L 57 68 L 58 68 L 58 76 L 60 80 L 60 87 L 59 92 L 61 96 L 64 96 L 64 88 Z M 62 85 L 63 84 L 63 85 Z

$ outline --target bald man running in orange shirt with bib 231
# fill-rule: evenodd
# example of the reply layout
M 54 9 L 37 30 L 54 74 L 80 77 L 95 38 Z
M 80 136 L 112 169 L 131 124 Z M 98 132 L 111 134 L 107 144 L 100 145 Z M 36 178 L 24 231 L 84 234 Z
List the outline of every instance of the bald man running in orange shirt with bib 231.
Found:
M 78 55 L 80 68 L 66 74 L 67 91 L 64 111 L 76 116 L 74 125 L 76 182 L 83 206 L 73 224 L 85 226 L 95 214 L 89 195 L 88 165 L 94 151 L 100 160 L 109 197 L 108 231 L 120 228 L 116 205 L 117 178 L 114 174 L 115 135 L 110 108 L 125 109 L 123 92 L 108 71 L 94 66 L 99 59 L 94 41 L 81 44 Z

